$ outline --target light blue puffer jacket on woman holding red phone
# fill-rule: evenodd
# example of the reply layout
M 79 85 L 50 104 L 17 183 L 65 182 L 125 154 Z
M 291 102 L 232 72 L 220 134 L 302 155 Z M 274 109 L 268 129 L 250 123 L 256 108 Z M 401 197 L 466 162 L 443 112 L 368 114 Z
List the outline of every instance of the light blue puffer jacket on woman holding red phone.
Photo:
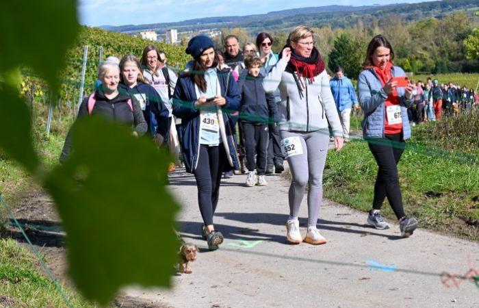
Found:
M 393 77 L 405 76 L 404 70 L 399 66 L 391 68 Z M 397 88 L 400 97 L 402 113 L 402 132 L 404 140 L 411 138 L 411 126 L 407 116 L 407 108 L 414 103 L 414 97 L 406 99 L 404 88 Z M 373 68 L 363 70 L 358 79 L 359 103 L 364 111 L 363 136 L 364 138 L 383 138 L 385 129 L 387 94 L 383 84 L 377 77 Z

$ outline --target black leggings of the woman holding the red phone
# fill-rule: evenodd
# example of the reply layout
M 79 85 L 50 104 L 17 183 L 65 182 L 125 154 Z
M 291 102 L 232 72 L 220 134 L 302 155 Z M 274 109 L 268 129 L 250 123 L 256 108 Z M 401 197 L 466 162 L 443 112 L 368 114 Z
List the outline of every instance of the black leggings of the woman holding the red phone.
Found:
M 399 186 L 398 162 L 406 143 L 402 141 L 402 133 L 385 135 L 385 138 L 368 140 L 370 150 L 378 164 L 378 176 L 374 185 L 373 209 L 380 209 L 385 197 L 389 201 L 398 219 L 406 216 L 402 206 L 402 195 Z

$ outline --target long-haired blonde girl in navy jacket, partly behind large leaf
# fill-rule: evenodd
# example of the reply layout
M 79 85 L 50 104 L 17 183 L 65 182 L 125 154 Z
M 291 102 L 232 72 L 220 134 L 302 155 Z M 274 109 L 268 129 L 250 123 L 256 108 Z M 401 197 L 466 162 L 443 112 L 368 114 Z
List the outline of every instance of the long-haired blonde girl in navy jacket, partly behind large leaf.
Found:
M 148 131 L 158 146 L 168 136 L 168 108 L 155 88 L 145 83 L 140 61 L 134 55 L 125 55 L 120 61 L 120 90 L 138 101 L 148 124 Z

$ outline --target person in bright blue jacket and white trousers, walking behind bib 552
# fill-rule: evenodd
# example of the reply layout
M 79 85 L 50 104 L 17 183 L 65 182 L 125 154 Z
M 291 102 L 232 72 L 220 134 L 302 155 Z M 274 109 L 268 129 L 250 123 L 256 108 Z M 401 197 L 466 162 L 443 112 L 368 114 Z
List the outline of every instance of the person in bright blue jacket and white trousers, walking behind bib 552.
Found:
M 354 86 L 352 86 L 350 79 L 344 76 L 344 70 L 340 66 L 335 68 L 335 77 L 329 81 L 329 86 L 331 87 L 331 93 L 333 93 L 339 119 L 343 127 L 344 141 L 347 142 L 349 141 L 352 105 L 354 104 L 354 109 L 359 108 L 356 91 L 354 91 Z

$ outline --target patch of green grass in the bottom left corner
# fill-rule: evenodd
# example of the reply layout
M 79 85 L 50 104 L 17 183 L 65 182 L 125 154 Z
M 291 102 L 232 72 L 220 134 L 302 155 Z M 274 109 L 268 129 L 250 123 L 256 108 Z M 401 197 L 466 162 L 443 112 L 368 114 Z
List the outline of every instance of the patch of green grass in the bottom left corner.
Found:
M 14 240 L 0 240 L 1 307 L 68 307 L 53 282 L 40 272 L 36 257 Z M 62 290 L 73 307 L 95 307 L 69 287 Z

